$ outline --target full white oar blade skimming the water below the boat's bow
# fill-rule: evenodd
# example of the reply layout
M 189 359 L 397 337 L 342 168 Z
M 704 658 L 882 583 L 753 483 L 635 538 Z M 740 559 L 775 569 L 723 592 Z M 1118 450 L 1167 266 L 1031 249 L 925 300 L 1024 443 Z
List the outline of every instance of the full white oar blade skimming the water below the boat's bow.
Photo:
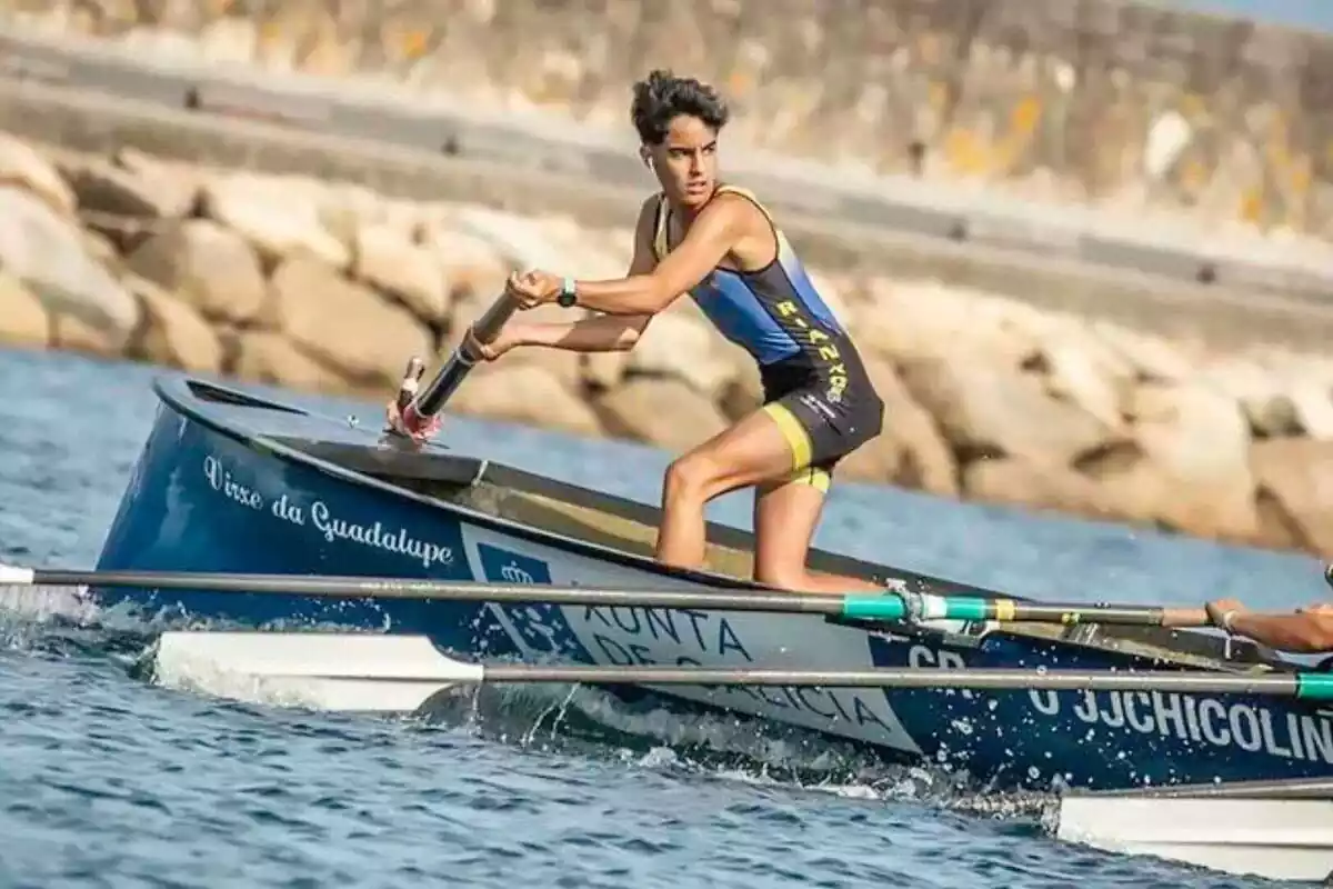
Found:
M 159 684 L 269 706 L 413 713 L 440 692 L 483 680 L 424 636 L 168 632 L 155 653 Z

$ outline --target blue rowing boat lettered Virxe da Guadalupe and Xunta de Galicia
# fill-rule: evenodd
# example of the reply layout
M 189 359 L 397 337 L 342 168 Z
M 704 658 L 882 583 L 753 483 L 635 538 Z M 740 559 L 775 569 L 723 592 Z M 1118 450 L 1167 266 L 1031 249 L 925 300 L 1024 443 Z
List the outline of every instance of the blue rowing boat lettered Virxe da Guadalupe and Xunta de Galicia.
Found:
M 437 444 L 415 446 L 188 377 L 160 409 L 99 569 L 359 574 L 657 589 L 760 589 L 749 534 L 709 526 L 706 572 L 651 558 L 657 510 Z M 944 596 L 998 596 L 816 552 L 817 569 Z M 272 593 L 91 590 L 144 616 L 420 633 L 464 656 L 792 669 L 869 666 L 1292 669 L 1246 642 L 1113 625 L 928 621 L 540 602 L 331 600 Z M 993 786 L 1132 788 L 1328 777 L 1333 713 L 1260 696 L 1178 692 L 655 689 L 964 769 Z

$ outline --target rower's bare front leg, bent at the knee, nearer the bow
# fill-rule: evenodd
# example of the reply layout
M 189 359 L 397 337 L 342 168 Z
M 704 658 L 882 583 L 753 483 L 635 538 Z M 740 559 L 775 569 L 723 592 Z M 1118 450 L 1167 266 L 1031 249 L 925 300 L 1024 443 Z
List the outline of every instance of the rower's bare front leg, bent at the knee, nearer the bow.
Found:
M 666 469 L 659 561 L 701 568 L 705 556 L 704 506 L 729 490 L 782 478 L 792 472 L 792 450 L 770 416 L 757 411 Z

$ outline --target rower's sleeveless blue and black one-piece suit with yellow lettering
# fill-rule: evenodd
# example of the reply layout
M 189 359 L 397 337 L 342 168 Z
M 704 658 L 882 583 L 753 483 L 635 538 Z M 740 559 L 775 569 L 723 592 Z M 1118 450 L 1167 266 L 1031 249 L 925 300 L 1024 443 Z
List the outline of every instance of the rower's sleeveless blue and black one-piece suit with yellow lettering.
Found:
M 834 464 L 880 435 L 884 403 L 842 325 L 820 299 L 772 215 L 746 189 L 718 185 L 764 213 L 777 256 L 753 272 L 716 268 L 689 295 L 709 321 L 754 359 L 764 411 L 792 448 L 792 480 L 828 490 Z M 670 252 L 670 207 L 657 196 L 653 252 Z

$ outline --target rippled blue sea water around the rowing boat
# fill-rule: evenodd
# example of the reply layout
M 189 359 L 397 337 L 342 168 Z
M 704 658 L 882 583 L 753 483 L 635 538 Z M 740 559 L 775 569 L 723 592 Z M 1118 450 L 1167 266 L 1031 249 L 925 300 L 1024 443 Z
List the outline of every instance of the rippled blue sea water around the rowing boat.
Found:
M 89 568 L 159 371 L 0 351 L 0 560 Z M 376 404 L 296 396 L 380 421 Z M 652 501 L 668 454 L 451 417 L 496 458 Z M 712 517 L 748 525 L 732 496 Z M 1288 608 L 1313 560 L 1117 525 L 836 488 L 817 542 L 1061 600 Z M 528 686 L 423 722 L 148 685 L 144 634 L 69 590 L 0 588 L 0 886 L 1250 886 L 1060 844 L 1040 794 L 725 717 Z M 96 616 L 95 616 L 96 617 Z M 141 629 L 141 628 L 139 628 Z

